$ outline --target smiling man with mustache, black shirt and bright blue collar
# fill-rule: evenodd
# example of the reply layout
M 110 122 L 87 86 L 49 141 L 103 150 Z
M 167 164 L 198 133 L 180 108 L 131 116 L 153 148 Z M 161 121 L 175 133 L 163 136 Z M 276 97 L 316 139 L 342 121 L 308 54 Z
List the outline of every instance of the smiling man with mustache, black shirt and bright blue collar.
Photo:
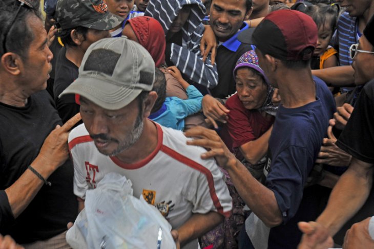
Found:
M 210 9 L 210 25 L 218 40 L 217 72 L 218 85 L 202 100 L 204 115 L 217 128 L 215 121 L 226 122 L 228 109 L 224 99 L 235 93 L 233 70 L 239 57 L 253 48 L 241 43 L 237 37 L 248 29 L 244 22 L 252 12 L 252 0 L 213 0 Z M 215 99 L 218 98 L 218 99 Z

